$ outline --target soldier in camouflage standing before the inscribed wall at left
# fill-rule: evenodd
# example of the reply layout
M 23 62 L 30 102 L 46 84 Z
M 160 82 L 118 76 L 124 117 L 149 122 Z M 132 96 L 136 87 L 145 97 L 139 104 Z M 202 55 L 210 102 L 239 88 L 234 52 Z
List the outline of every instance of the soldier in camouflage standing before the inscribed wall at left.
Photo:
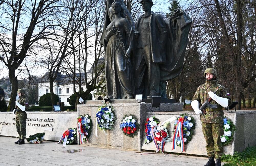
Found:
M 25 111 L 28 110 L 28 101 L 26 99 L 24 89 L 18 89 L 18 103 L 22 106 L 25 106 Z M 16 129 L 19 134 L 19 140 L 15 142 L 15 144 L 25 144 L 24 139 L 26 138 L 26 120 L 27 120 L 27 113 L 22 111 L 17 105 L 15 107 L 15 114 L 16 114 Z

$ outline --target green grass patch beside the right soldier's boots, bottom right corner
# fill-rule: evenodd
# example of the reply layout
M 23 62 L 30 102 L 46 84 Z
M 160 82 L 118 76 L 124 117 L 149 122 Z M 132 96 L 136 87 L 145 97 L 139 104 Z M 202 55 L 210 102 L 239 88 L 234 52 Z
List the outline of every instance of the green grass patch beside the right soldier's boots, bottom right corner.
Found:
M 256 146 L 248 147 L 243 152 L 235 152 L 233 156 L 223 155 L 221 162 L 227 162 L 224 166 L 255 166 L 256 165 Z

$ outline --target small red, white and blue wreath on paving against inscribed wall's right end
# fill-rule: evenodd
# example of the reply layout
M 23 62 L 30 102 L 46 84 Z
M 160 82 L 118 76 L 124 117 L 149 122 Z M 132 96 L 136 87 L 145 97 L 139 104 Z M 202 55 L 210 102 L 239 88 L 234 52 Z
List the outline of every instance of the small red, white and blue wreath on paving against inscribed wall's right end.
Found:
M 71 145 L 77 142 L 77 128 L 68 128 L 63 134 L 59 143 L 65 145 Z

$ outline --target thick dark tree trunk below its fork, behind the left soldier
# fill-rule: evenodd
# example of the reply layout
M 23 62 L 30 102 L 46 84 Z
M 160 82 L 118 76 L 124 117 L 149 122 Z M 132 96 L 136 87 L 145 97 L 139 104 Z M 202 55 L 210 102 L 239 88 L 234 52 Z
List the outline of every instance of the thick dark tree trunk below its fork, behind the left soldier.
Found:
M 15 76 L 15 69 L 9 69 L 9 78 L 10 82 L 12 84 L 12 93 L 11 93 L 11 99 L 8 106 L 8 111 L 13 111 L 15 109 L 15 101 L 18 91 L 18 79 Z

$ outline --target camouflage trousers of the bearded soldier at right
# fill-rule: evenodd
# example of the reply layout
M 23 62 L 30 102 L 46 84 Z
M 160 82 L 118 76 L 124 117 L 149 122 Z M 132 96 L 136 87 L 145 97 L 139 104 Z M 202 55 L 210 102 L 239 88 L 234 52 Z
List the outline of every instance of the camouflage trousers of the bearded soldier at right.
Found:
M 223 135 L 223 123 L 204 123 L 202 122 L 202 131 L 206 141 L 206 151 L 209 157 L 220 158 L 223 153 L 223 147 L 220 136 Z

